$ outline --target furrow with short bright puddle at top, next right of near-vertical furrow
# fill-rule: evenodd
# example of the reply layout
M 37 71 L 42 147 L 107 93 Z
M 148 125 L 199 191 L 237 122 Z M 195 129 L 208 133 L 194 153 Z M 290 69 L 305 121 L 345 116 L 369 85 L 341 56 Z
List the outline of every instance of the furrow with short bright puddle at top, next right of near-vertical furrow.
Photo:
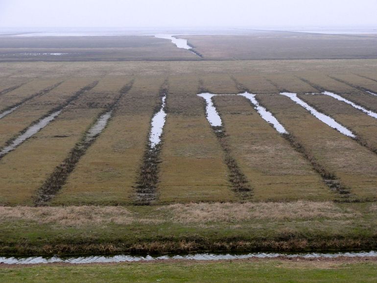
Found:
M 232 184 L 232 189 L 239 194 L 242 199 L 250 199 L 252 194 L 252 189 L 250 188 L 249 182 L 246 176 L 242 173 L 241 169 L 237 165 L 236 160 L 233 158 L 230 146 L 227 141 L 227 135 L 225 129 L 222 125 L 221 118 L 213 105 L 212 97 L 216 94 L 203 93 L 197 94 L 206 101 L 206 116 L 209 121 L 222 150 L 225 153 L 225 163 L 230 171 L 229 181 Z

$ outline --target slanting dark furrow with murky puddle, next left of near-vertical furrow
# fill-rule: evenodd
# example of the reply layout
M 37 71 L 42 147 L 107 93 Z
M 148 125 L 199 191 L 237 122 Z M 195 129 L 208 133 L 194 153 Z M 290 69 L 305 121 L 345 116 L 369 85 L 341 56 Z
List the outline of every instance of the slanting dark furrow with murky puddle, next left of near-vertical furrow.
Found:
M 38 189 L 35 205 L 43 206 L 51 200 L 56 193 L 64 186 L 70 173 L 73 171 L 81 157 L 84 156 L 88 148 L 95 142 L 96 138 L 102 133 L 109 120 L 112 118 L 118 102 L 124 94 L 127 94 L 131 89 L 133 81 L 124 86 L 117 97 L 117 99 L 108 106 L 98 117 L 94 123 L 87 129 L 83 137 L 71 149 L 68 157 L 57 167 L 47 178 L 44 184 Z

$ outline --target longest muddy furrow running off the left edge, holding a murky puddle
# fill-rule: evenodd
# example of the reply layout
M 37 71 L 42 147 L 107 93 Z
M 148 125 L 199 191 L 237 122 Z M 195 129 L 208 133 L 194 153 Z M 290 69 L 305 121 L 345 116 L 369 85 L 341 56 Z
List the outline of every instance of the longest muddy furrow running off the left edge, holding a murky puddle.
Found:
M 14 150 L 17 146 L 25 142 L 27 139 L 34 136 L 44 127 L 46 127 L 51 121 L 53 121 L 56 117 L 60 115 L 60 113 L 74 100 L 80 97 L 81 94 L 88 92 L 89 90 L 93 89 L 98 84 L 98 81 L 94 81 L 93 83 L 87 85 L 86 87 L 80 89 L 78 92 L 73 94 L 70 98 L 68 98 L 63 104 L 55 107 L 54 109 L 48 111 L 46 115 L 39 118 L 38 120 L 32 122 L 29 126 L 27 126 L 24 130 L 22 130 L 17 136 L 11 138 L 7 142 L 5 142 L 5 146 L 0 149 L 0 159 L 3 158 L 7 153 Z

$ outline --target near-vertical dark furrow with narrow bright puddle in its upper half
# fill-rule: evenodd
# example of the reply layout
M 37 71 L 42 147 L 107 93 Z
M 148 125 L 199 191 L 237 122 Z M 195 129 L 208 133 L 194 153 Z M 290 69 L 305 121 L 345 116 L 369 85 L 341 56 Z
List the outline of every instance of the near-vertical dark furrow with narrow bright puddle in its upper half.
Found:
M 150 205 L 157 199 L 157 184 L 159 182 L 159 163 L 161 152 L 161 137 L 166 118 L 166 95 L 168 94 L 168 82 L 165 80 L 159 91 L 161 105 L 156 107 L 151 119 L 151 127 L 148 142 L 136 181 L 136 205 Z

